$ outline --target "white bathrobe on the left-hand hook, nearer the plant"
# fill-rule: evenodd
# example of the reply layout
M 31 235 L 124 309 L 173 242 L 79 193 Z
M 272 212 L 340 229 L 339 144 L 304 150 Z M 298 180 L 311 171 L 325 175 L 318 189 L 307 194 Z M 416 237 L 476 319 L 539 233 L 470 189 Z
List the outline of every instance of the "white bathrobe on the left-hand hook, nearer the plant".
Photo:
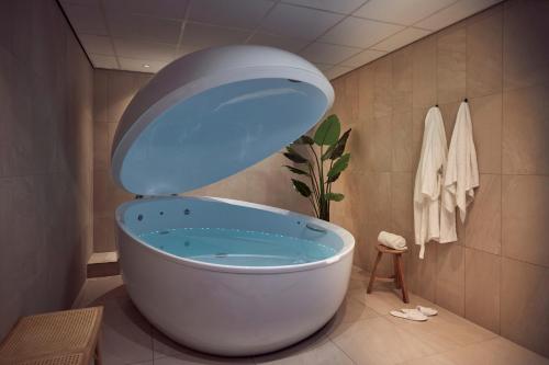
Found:
M 425 254 L 425 243 L 440 239 L 440 191 L 447 146 L 442 115 L 434 106 L 425 117 L 422 155 L 414 186 L 414 231 L 415 243 L 421 246 L 421 259 Z

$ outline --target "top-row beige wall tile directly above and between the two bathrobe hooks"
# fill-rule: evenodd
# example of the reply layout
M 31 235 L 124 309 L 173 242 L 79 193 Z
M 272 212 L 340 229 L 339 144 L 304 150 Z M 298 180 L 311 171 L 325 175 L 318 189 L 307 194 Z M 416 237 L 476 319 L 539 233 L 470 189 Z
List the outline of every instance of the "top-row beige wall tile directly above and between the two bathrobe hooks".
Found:
M 437 34 L 437 99 L 449 103 L 466 96 L 467 30 L 451 26 Z

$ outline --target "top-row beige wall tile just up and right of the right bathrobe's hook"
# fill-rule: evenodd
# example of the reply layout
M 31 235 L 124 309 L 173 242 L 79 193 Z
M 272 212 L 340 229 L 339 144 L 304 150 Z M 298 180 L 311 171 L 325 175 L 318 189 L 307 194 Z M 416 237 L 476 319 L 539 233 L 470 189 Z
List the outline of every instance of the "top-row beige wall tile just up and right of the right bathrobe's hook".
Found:
M 467 22 L 467 96 L 477 98 L 502 91 L 503 8 Z

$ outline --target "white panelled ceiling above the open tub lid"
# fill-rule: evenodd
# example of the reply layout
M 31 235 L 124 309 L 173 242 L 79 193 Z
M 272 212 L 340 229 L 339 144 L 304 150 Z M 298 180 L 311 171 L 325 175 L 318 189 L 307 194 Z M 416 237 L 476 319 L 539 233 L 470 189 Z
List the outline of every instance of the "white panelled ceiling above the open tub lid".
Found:
M 260 44 L 329 79 L 501 0 L 60 0 L 97 68 L 156 72 L 188 53 Z

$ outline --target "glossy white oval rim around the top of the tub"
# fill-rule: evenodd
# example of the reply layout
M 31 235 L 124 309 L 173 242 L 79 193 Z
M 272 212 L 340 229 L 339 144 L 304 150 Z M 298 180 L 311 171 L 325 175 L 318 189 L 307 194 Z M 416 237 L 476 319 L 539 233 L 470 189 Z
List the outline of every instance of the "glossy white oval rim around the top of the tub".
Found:
M 214 264 L 214 263 L 209 263 L 209 262 L 203 262 L 203 261 L 198 261 L 198 260 L 192 260 L 188 258 L 181 258 L 178 255 L 175 255 L 172 253 L 156 249 L 152 247 L 150 244 L 146 243 L 144 240 L 142 240 L 137 235 L 132 232 L 130 227 L 124 223 L 124 214 L 130 206 L 133 206 L 135 204 L 143 204 L 145 202 L 163 202 L 163 201 L 201 201 L 201 202 L 214 202 L 214 203 L 225 203 L 225 204 L 231 204 L 231 205 L 236 205 L 236 206 L 242 206 L 242 207 L 247 207 L 247 208 L 253 208 L 253 209 L 260 209 L 260 210 L 266 210 L 266 212 L 271 212 L 274 214 L 280 214 L 284 216 L 293 216 L 296 218 L 301 218 L 304 221 L 307 223 L 313 223 L 316 226 L 320 226 L 322 228 L 325 228 L 327 230 L 333 231 L 336 233 L 343 241 L 343 248 L 340 251 L 333 255 L 329 256 L 328 259 L 320 260 L 320 261 L 314 261 L 314 262 L 307 262 L 303 264 L 295 264 L 295 265 L 279 265 L 279 266 L 235 266 L 235 265 L 221 265 L 221 264 Z M 309 270 L 315 270 L 318 267 L 325 267 L 332 264 L 335 264 L 339 262 L 344 256 L 352 253 L 355 249 L 355 238 L 352 235 L 347 231 L 345 228 L 341 228 L 335 224 L 307 216 L 304 214 L 282 209 L 282 208 L 277 208 L 273 206 L 269 205 L 264 205 L 264 204 L 257 204 L 257 203 L 250 203 L 250 202 L 245 202 L 245 201 L 238 201 L 238 199 L 232 199 L 232 198 L 225 198 L 225 197 L 215 197 L 215 196 L 147 196 L 143 199 L 135 199 L 135 201 L 128 201 L 123 204 L 121 204 L 115 212 L 115 220 L 116 220 L 116 226 L 125 233 L 133 241 L 138 243 L 138 247 L 141 249 L 147 250 L 149 253 L 153 253 L 157 256 L 163 258 L 164 260 L 184 265 L 184 266 L 191 266 L 194 269 L 200 269 L 200 270 L 206 270 L 206 271 L 213 271 L 213 272 L 222 272 L 222 273 L 234 273 L 234 274 L 281 274 L 281 273 L 292 273 L 292 272 L 300 272 L 300 271 L 309 271 Z M 116 246 L 120 251 L 120 244 L 117 243 L 117 240 L 120 238 L 116 236 Z M 123 258 L 121 260 L 124 260 Z

